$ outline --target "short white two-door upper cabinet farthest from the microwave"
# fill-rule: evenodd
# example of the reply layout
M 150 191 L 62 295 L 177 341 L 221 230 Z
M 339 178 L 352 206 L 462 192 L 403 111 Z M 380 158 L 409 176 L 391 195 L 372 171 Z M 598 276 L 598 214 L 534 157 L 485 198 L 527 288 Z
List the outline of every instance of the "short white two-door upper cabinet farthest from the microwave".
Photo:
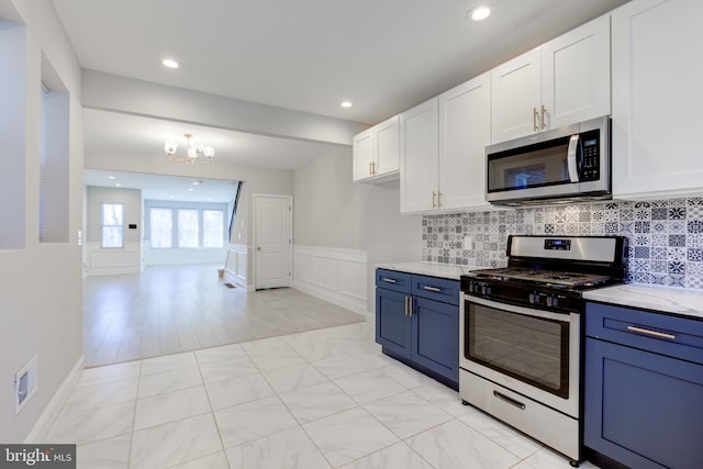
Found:
M 398 179 L 400 168 L 400 118 L 398 115 L 354 137 L 354 180 L 383 182 Z

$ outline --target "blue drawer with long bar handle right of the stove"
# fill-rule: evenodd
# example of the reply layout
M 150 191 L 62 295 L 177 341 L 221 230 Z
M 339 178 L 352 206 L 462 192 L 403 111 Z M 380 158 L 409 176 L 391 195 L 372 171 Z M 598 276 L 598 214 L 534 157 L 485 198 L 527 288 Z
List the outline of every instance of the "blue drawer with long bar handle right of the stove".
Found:
M 703 364 L 703 321 L 588 303 L 585 335 Z

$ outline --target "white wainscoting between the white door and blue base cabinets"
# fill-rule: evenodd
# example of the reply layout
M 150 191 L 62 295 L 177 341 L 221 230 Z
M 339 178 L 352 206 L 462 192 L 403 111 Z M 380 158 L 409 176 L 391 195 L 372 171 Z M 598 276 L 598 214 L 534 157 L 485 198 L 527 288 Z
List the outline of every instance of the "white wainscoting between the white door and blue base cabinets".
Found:
M 293 288 L 360 314 L 367 314 L 365 250 L 293 247 Z

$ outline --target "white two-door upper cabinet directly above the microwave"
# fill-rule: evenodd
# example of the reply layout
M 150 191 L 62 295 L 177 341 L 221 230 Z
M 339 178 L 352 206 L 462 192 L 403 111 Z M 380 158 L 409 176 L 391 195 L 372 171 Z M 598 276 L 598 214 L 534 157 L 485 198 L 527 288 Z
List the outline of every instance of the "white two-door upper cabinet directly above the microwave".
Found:
M 610 114 L 610 16 L 491 71 L 492 142 Z

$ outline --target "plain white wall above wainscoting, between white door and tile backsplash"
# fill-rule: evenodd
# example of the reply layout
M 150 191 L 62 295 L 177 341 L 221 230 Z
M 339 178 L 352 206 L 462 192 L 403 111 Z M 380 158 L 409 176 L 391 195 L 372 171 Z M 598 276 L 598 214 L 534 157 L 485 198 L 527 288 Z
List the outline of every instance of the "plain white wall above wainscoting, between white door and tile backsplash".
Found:
M 297 252 L 312 249 L 322 253 L 317 257 L 334 258 L 338 250 L 353 249 L 355 259 L 365 256 L 366 303 L 368 311 L 375 311 L 375 265 L 421 260 L 422 216 L 400 214 L 398 181 L 379 186 L 353 182 L 350 147 L 295 170 L 293 185 Z

